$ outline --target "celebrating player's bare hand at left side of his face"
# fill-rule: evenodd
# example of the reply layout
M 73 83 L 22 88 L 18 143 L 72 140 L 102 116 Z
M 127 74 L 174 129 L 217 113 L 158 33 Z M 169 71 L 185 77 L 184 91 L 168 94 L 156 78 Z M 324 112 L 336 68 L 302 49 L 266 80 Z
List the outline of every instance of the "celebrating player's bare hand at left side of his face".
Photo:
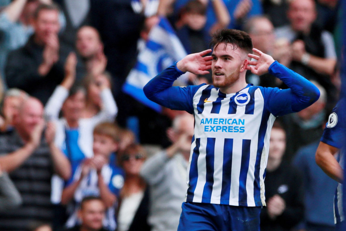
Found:
M 211 49 L 200 53 L 189 54 L 184 59 L 177 62 L 176 67 L 182 72 L 191 72 L 193 74 L 208 74 L 211 68 L 211 56 L 203 57 L 211 52 Z

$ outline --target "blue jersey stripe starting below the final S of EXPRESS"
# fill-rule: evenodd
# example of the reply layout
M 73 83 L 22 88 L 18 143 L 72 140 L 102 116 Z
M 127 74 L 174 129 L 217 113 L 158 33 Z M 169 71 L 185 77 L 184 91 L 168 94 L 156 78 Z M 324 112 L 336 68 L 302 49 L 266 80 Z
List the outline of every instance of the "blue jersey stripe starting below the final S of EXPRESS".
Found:
M 239 206 L 247 206 L 246 178 L 250 162 L 250 144 L 251 140 L 243 140 L 242 163 L 239 176 Z

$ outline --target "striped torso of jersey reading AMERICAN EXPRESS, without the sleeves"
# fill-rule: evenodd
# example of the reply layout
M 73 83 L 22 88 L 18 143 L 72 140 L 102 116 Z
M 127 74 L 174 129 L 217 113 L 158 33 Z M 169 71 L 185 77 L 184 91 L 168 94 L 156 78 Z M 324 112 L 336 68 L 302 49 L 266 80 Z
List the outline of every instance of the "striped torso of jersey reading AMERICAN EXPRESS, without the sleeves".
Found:
M 194 94 L 186 202 L 265 205 L 265 168 L 275 116 L 265 107 L 264 91 L 248 85 L 226 95 L 204 85 Z

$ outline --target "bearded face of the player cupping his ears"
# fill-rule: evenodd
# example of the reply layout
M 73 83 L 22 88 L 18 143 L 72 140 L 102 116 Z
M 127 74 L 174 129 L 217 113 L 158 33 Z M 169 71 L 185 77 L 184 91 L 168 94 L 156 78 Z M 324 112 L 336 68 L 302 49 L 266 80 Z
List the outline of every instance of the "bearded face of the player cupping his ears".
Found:
M 247 54 L 233 44 L 220 43 L 212 52 L 213 85 L 219 88 L 232 86 L 240 77 L 240 69 L 245 63 Z

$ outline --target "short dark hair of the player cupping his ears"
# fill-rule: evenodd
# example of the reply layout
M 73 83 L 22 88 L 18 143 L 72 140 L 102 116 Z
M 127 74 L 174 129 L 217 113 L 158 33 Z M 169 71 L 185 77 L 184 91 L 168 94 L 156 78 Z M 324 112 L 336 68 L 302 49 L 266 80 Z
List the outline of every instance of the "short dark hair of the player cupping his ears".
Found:
M 227 44 L 233 45 L 233 50 L 239 47 L 247 53 L 252 53 L 252 40 L 251 37 L 242 30 L 235 29 L 221 29 L 212 35 L 210 41 L 210 47 L 216 48 L 220 43 L 225 43 L 225 48 Z

